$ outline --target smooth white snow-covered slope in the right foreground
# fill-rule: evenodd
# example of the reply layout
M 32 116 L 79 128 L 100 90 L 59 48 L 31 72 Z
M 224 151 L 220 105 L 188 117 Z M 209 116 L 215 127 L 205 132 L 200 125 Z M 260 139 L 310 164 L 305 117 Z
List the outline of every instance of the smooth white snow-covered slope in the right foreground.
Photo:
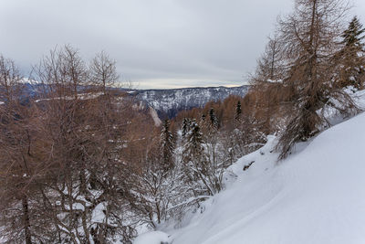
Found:
M 285 161 L 270 153 L 274 144 L 270 138 L 233 165 L 237 179 L 203 214 L 166 230 L 173 244 L 365 243 L 365 113 L 299 145 Z

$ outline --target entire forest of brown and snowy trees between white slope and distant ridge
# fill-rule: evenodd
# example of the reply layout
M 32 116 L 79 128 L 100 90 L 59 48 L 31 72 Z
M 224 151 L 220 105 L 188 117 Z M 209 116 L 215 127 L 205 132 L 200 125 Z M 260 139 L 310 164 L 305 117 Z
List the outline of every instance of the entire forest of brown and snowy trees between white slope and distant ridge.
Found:
M 178 228 L 268 135 L 280 164 L 331 126 L 328 112 L 359 113 L 350 94 L 364 89 L 365 28 L 349 8 L 296 0 L 278 17 L 245 97 L 159 127 L 114 89 L 120 76 L 106 52 L 85 60 L 69 45 L 50 50 L 32 69 L 35 97 L 1 55 L 0 242 L 131 243 L 140 228 Z

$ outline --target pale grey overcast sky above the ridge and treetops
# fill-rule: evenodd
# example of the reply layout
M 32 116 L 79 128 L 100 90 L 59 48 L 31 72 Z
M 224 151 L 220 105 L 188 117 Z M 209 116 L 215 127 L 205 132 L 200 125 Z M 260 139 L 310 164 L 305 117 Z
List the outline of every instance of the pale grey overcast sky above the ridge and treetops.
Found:
M 353 13 L 365 22 L 365 1 Z M 0 53 L 24 72 L 51 48 L 105 50 L 138 88 L 242 85 L 293 0 L 0 0 Z

